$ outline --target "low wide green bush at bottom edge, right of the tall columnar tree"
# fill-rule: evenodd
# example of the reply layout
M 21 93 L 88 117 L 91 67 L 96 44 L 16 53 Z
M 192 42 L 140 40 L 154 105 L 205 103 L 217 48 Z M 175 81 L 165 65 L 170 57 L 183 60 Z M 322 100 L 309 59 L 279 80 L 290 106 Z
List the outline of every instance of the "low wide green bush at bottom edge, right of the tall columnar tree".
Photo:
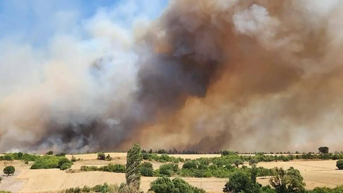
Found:
M 167 177 L 157 178 L 151 182 L 149 191 L 155 193 L 206 193 L 204 190 L 188 184 L 185 180 L 180 178 L 170 180 Z

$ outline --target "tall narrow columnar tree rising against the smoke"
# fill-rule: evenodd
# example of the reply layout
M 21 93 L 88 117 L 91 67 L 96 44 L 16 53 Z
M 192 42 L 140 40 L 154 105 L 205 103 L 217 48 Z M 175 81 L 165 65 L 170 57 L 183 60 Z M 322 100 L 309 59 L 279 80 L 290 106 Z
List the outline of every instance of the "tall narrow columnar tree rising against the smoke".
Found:
M 126 161 L 126 183 L 121 183 L 119 186 L 119 192 L 138 192 L 141 185 L 141 162 L 143 160 L 142 150 L 138 144 L 134 144 L 129 149 Z

